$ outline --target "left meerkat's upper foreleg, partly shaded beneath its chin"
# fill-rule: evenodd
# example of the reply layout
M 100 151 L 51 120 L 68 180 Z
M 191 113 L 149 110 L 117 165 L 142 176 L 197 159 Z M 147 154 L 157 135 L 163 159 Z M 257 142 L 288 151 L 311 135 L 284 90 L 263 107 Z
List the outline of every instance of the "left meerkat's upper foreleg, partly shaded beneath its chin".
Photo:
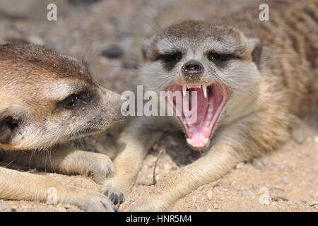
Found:
M 78 150 L 67 144 L 56 145 L 45 151 L 3 152 L 0 157 L 7 162 L 13 160 L 13 163 L 24 166 L 22 169 L 28 167 L 68 175 L 92 176 L 98 184 L 102 184 L 114 172 L 112 160 L 107 155 Z

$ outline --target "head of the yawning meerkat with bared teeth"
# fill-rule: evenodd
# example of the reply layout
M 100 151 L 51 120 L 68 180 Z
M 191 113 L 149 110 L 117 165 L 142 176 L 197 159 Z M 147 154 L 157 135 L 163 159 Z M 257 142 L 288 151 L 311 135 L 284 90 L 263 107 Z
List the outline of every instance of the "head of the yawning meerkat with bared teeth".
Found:
M 141 77 L 147 89 L 179 91 L 182 107 L 192 104 L 196 91 L 192 108 L 178 117 L 192 148 L 206 147 L 216 124 L 248 114 L 246 93 L 256 93 L 259 81 L 258 46 L 257 39 L 235 28 L 192 20 L 171 25 L 144 44 Z M 176 108 L 175 99 L 172 103 Z M 196 120 L 189 123 L 194 112 Z

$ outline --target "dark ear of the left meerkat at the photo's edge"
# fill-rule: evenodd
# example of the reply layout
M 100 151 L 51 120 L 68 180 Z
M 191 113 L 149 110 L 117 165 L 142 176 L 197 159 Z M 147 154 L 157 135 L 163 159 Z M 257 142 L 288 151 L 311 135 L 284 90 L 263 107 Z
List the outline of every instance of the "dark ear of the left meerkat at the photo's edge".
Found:
M 1 114 L 0 112 L 0 143 L 8 144 L 16 136 L 20 119 L 16 117 Z

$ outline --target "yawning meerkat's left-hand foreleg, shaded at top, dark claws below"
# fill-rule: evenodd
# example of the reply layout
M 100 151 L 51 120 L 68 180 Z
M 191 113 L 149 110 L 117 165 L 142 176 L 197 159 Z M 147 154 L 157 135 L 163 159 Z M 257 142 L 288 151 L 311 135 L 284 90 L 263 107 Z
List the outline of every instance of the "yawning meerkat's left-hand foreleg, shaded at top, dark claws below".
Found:
M 124 197 L 130 193 L 143 158 L 151 145 L 163 134 L 162 130 L 149 127 L 151 121 L 153 120 L 145 118 L 134 121 L 119 137 L 118 149 L 121 152 L 114 159 L 115 172 L 101 189 L 115 204 L 122 203 Z

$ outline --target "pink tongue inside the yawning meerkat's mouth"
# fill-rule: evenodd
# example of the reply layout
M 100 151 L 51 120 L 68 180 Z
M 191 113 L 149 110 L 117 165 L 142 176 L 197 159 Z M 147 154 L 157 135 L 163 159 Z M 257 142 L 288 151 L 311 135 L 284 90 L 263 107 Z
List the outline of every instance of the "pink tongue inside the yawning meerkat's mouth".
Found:
M 194 102 L 192 103 L 192 92 L 196 91 L 196 98 L 194 97 Z M 184 97 L 182 97 L 184 99 Z M 184 101 L 182 99 L 182 102 Z M 190 88 L 189 89 L 189 116 L 193 117 L 196 114 L 196 121 L 192 123 L 193 125 L 199 125 L 201 121 L 204 120 L 206 112 L 208 109 L 208 96 L 204 97 L 204 92 L 201 88 Z

